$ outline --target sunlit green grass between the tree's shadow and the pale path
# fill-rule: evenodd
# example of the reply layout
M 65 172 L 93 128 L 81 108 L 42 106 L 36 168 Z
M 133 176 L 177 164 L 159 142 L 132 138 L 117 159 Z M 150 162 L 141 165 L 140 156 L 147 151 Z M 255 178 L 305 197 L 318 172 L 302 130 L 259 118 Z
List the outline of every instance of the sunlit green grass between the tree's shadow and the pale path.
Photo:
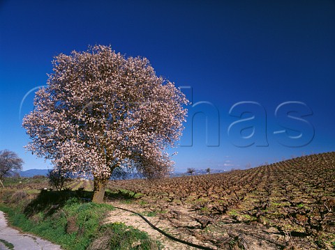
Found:
M 50 217 L 39 212 L 28 219 L 22 212 L 0 205 L 0 210 L 8 214 L 11 225 L 60 244 L 64 249 L 78 250 L 87 248 L 105 212 L 111 209 L 109 205 L 80 203 L 73 198 Z M 73 232 L 69 228 L 70 220 L 73 220 Z

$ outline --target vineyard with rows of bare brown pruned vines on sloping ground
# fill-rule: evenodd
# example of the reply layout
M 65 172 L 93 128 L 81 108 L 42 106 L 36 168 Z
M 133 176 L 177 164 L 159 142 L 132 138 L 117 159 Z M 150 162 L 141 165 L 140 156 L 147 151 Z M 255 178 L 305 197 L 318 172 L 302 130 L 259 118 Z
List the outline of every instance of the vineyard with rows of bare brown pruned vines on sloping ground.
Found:
M 13 186 L 45 187 L 45 179 Z M 66 188 L 91 191 L 93 183 L 70 180 Z M 335 153 L 227 173 L 110 180 L 106 201 L 207 249 L 334 249 Z

